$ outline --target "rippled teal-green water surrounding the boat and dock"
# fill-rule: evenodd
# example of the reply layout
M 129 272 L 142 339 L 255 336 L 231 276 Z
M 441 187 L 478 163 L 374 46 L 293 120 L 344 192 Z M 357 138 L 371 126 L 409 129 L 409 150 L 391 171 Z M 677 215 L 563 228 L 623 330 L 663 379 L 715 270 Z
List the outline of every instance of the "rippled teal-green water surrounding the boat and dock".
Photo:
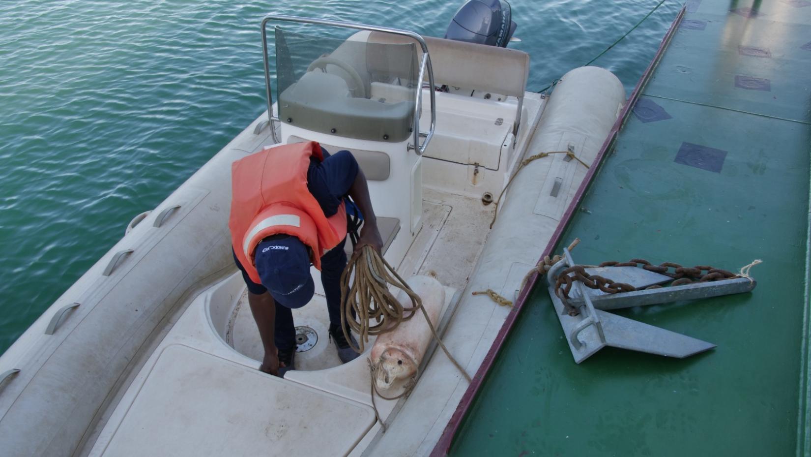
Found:
M 530 90 L 590 61 L 658 0 L 514 0 Z M 0 352 L 263 110 L 273 12 L 442 36 L 461 2 L 0 2 Z M 681 6 L 594 65 L 630 92 Z

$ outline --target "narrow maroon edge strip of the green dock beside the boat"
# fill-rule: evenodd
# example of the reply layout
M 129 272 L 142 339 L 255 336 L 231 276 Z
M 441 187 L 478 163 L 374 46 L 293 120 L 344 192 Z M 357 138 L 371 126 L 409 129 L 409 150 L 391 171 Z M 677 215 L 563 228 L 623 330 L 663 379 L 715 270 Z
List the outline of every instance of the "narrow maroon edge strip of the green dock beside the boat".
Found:
M 650 75 L 653 74 L 654 68 L 662 58 L 664 51 L 667 49 L 668 43 L 670 43 L 673 34 L 679 27 L 683 17 L 684 6 L 682 6 L 679 14 L 676 15 L 676 19 L 673 21 L 673 24 L 671 24 L 669 29 L 667 29 L 667 33 L 662 39 L 662 42 L 659 44 L 659 50 L 656 51 L 656 55 L 654 55 L 653 60 L 650 61 L 650 64 L 646 68 L 645 72 L 642 73 L 642 77 L 639 79 L 639 82 L 637 82 L 637 87 L 633 88 L 631 97 L 629 97 L 628 103 L 625 104 L 620 117 L 616 120 L 616 123 L 614 123 L 614 127 L 611 127 L 611 131 L 608 132 L 608 136 L 603 142 L 600 152 L 597 154 L 597 157 L 594 158 L 595 164 L 603 162 L 603 157 L 605 157 L 605 154 L 611 147 L 611 144 L 613 144 L 614 140 L 616 140 L 620 127 L 622 127 L 625 120 L 628 119 L 634 104 L 637 102 L 637 98 L 639 98 L 639 94 L 642 93 L 642 88 L 644 88 L 648 80 L 650 80 Z M 541 254 L 539 261 L 541 261 L 545 256 L 551 256 L 551 250 L 560 242 L 561 235 L 563 235 L 565 228 L 569 226 L 569 221 L 571 221 L 574 211 L 577 209 L 577 205 L 580 205 L 580 201 L 583 199 L 583 195 L 586 193 L 586 189 L 589 187 L 592 179 L 594 179 L 594 174 L 597 172 L 598 168 L 599 166 L 591 166 L 589 171 L 586 173 L 586 177 L 583 179 L 580 187 L 577 188 L 577 193 L 574 195 L 574 199 L 569 205 L 569 208 L 566 209 L 563 219 L 558 224 L 555 233 L 552 234 L 547 247 L 543 249 L 543 254 Z M 521 294 L 518 295 L 518 298 L 513 305 L 513 309 L 504 320 L 504 324 L 501 326 L 499 334 L 496 335 L 496 340 L 493 342 L 490 350 L 487 351 L 487 355 L 484 356 L 481 366 L 479 366 L 478 371 L 474 375 L 473 382 L 470 382 L 470 385 L 467 386 L 467 390 L 465 391 L 465 394 L 462 395 L 456 411 L 453 412 L 453 416 L 451 416 L 450 420 L 448 420 L 448 424 L 445 425 L 445 429 L 442 431 L 439 442 L 436 443 L 433 451 L 431 451 L 431 457 L 443 457 L 444 455 L 448 455 L 451 443 L 453 442 L 453 437 L 456 436 L 459 425 L 461 425 L 462 418 L 465 417 L 468 408 L 470 408 L 470 404 L 473 403 L 473 399 L 478 393 L 478 389 L 482 386 L 482 382 L 484 381 L 487 371 L 490 370 L 493 362 L 496 360 L 496 356 L 501 350 L 501 347 L 504 345 L 504 341 L 507 339 L 509 331 L 512 330 L 513 326 L 515 325 L 518 313 L 521 313 L 521 308 L 524 307 L 526 299 L 530 295 L 530 291 L 532 291 L 533 287 L 535 286 L 535 282 L 538 281 L 538 278 L 538 274 L 534 274 L 530 280 L 526 282 L 526 286 L 521 290 Z

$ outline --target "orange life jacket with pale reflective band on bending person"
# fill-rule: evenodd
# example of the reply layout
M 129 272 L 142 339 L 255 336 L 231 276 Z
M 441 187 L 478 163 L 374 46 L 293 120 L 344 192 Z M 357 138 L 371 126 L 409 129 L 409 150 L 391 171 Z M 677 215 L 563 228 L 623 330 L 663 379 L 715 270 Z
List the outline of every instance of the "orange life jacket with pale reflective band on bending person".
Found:
M 254 263 L 256 245 L 279 233 L 293 235 L 311 248 L 311 261 L 321 269 L 321 256 L 346 237 L 344 203 L 327 218 L 307 189 L 310 157 L 324 160 L 315 141 L 264 149 L 231 166 L 231 245 L 248 276 L 261 283 Z

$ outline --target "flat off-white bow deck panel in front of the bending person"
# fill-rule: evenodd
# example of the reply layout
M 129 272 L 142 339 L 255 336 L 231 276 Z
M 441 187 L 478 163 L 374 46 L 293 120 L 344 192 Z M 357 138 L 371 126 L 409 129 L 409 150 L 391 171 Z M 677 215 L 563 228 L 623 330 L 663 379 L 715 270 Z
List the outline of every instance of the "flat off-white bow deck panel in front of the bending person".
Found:
M 346 455 L 374 420 L 361 403 L 173 344 L 103 455 Z

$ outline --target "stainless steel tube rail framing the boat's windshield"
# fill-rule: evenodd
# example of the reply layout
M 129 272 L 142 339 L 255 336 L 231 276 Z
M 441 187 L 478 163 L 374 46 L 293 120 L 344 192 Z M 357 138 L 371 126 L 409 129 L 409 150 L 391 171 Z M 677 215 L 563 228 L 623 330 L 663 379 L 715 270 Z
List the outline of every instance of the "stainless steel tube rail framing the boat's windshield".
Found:
M 423 40 L 423 37 L 420 37 L 417 33 L 410 32 L 408 30 L 401 30 L 400 28 L 378 27 L 375 25 L 357 24 L 352 22 L 341 22 L 337 20 L 305 18 L 288 15 L 266 15 L 264 16 L 264 19 L 262 19 L 262 27 L 261 27 L 262 52 L 264 58 L 264 84 L 268 94 L 268 119 L 270 123 L 271 135 L 273 136 L 274 141 L 276 141 L 277 143 L 280 142 L 278 136 L 276 135 L 276 129 L 273 126 L 273 121 L 279 121 L 279 118 L 273 115 L 273 98 L 270 90 L 270 57 L 268 56 L 267 24 L 271 20 L 298 22 L 302 24 L 328 25 L 332 27 L 341 27 L 341 28 L 354 28 L 357 30 L 368 30 L 370 32 L 393 33 L 395 35 L 410 37 L 413 38 L 414 41 L 417 41 L 419 43 L 420 48 L 422 48 L 423 50 L 423 61 L 419 68 L 419 79 L 417 80 L 419 88 L 417 90 L 416 97 L 417 99 L 414 103 L 414 145 L 412 146 L 411 144 L 409 144 L 409 149 L 413 147 L 416 153 L 418 153 L 419 155 L 423 155 L 428 143 L 431 141 L 431 137 L 434 136 L 434 130 L 436 129 L 436 90 L 435 90 L 436 84 L 434 84 L 434 70 L 433 67 L 431 67 L 431 57 L 428 55 L 428 45 L 425 44 L 425 40 Z M 419 115 L 423 107 L 423 77 L 425 75 L 424 71 L 426 69 L 428 71 L 428 83 L 431 84 L 431 129 L 425 136 L 425 141 L 423 141 L 423 144 L 420 145 Z

